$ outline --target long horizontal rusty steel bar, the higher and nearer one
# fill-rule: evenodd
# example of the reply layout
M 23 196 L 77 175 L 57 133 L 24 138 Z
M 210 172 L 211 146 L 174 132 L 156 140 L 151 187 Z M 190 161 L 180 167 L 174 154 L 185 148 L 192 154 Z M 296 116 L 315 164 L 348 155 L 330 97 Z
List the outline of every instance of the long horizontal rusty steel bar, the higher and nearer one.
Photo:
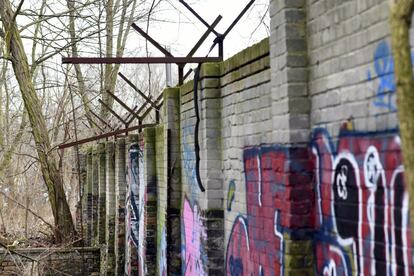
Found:
M 220 57 L 64 57 L 62 63 L 71 64 L 187 64 L 219 62 Z

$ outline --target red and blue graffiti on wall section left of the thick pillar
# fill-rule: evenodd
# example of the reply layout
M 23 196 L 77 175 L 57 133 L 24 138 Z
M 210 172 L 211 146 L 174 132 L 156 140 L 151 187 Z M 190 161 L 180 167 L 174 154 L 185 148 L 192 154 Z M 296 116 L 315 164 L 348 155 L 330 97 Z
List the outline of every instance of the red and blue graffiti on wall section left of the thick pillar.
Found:
M 310 183 L 311 173 L 301 161 L 306 151 L 274 146 L 244 151 L 247 216 L 239 215 L 233 224 L 226 254 L 227 275 L 283 275 L 283 228 L 290 222 L 287 216 L 282 222 L 282 216 L 287 212 L 289 183 L 296 181 L 292 175 Z M 290 174 L 283 173 L 287 166 Z

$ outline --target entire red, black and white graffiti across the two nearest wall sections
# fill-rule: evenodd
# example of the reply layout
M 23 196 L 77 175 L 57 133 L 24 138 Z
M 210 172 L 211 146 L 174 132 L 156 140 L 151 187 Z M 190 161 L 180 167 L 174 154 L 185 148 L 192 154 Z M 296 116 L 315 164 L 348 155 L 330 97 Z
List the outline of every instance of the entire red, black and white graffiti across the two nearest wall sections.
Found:
M 246 149 L 247 216 L 233 224 L 227 275 L 283 275 L 283 233 L 299 228 L 315 229 L 317 275 L 411 275 L 401 157 L 396 130 L 342 130 L 335 146 L 316 129 L 308 149 Z

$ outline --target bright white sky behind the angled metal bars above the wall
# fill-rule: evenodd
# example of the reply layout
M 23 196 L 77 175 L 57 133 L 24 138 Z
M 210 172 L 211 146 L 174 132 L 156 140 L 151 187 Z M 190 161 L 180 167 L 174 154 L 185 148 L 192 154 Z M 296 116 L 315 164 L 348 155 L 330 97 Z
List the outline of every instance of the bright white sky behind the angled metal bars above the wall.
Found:
M 187 0 L 186 2 L 209 24 L 213 23 L 220 14 L 223 19 L 216 27 L 216 31 L 223 33 L 249 1 Z M 256 0 L 250 10 L 230 32 L 224 42 L 225 58 L 268 36 L 268 3 L 268 0 Z M 157 21 L 151 22 L 149 34 L 160 44 L 170 46 L 171 52 L 175 56 L 185 56 L 206 31 L 206 27 L 178 0 L 163 0 L 157 8 L 154 18 Z M 262 18 L 264 18 L 264 23 L 260 23 Z M 142 29 L 146 28 L 145 25 L 140 25 L 140 27 Z M 205 56 L 214 38 L 214 34 L 211 34 L 204 42 L 204 47 L 200 48 L 195 56 Z M 128 43 L 144 45 L 145 40 L 132 31 Z M 161 53 L 153 47 L 150 48 L 150 52 L 152 56 L 161 56 Z M 217 50 L 214 50 L 210 56 L 216 54 Z

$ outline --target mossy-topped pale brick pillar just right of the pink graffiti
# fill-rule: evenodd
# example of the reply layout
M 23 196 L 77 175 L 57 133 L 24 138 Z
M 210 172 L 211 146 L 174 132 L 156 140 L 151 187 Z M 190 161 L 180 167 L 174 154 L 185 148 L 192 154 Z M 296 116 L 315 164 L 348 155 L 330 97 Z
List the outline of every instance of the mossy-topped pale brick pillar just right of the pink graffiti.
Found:
M 220 64 L 206 63 L 200 71 L 200 176 L 205 192 L 200 200 L 206 231 L 206 272 L 223 275 L 225 259 L 224 205 L 221 143 Z

